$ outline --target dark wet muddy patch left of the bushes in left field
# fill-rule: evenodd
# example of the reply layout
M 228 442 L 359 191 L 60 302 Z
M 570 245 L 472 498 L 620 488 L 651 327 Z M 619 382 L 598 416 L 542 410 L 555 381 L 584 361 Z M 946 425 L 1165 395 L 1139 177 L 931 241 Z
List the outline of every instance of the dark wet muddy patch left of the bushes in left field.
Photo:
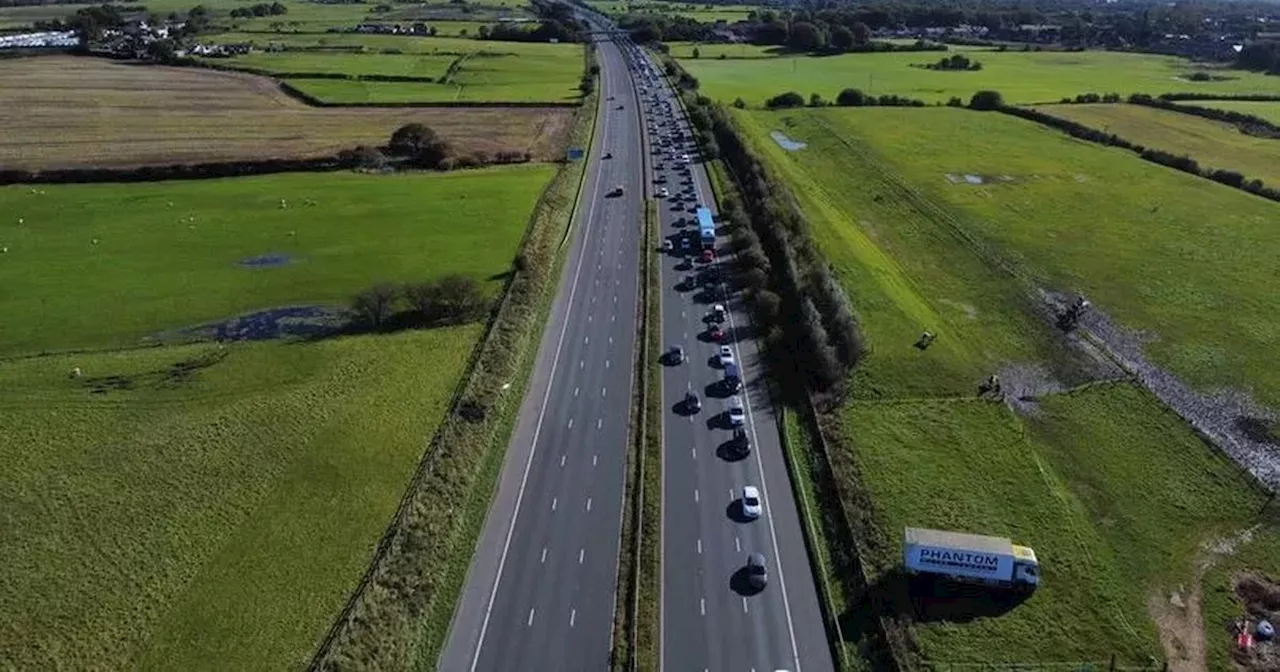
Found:
M 278 338 L 324 338 L 349 324 L 349 315 L 337 306 L 282 306 L 198 324 L 152 337 L 154 340 L 274 340 Z

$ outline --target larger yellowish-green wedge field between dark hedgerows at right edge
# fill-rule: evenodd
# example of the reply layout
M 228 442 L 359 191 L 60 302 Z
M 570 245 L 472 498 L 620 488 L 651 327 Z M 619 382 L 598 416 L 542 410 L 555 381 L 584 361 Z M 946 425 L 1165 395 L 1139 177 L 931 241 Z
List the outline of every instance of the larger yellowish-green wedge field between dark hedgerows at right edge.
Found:
M 1140 105 L 1047 105 L 1041 110 L 1146 147 L 1190 156 L 1204 168 L 1280 184 L 1280 142 L 1247 136 L 1235 124 Z

